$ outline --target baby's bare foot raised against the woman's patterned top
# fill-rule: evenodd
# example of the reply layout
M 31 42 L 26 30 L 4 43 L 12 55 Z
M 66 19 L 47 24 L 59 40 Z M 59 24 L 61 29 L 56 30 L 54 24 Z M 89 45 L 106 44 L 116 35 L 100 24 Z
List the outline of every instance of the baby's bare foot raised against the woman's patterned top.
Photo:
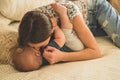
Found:
M 67 14 L 67 8 L 65 6 L 59 3 L 52 3 L 51 6 L 59 15 Z

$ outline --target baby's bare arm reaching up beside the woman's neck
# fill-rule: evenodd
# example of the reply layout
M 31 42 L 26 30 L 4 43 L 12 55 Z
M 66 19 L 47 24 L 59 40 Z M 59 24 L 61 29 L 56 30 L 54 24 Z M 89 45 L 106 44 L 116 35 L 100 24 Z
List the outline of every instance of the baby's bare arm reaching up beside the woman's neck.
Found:
M 51 18 L 51 22 L 54 28 L 54 41 L 59 45 L 59 47 L 63 47 L 63 45 L 65 44 L 65 35 L 63 33 L 63 31 L 59 28 L 59 26 L 57 25 L 57 19 L 56 18 Z

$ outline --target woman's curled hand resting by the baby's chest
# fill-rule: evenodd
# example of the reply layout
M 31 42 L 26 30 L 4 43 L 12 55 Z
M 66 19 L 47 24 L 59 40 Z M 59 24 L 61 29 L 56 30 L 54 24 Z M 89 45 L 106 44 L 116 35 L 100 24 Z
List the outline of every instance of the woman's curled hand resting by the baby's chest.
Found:
M 50 64 L 54 64 L 54 63 L 62 61 L 63 53 L 62 53 L 62 51 L 60 51 L 54 47 L 48 46 L 44 49 L 43 57 Z

